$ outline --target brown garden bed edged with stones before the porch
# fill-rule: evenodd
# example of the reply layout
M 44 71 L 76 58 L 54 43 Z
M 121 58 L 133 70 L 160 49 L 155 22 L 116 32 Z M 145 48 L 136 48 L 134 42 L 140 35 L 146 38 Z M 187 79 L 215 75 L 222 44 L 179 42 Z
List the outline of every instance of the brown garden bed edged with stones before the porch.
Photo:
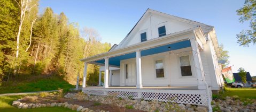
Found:
M 118 107 L 114 105 L 109 105 L 109 104 L 101 104 L 96 101 L 88 101 L 88 100 L 76 100 L 76 99 L 67 99 L 67 98 L 53 98 L 53 97 L 48 97 L 48 98 L 38 98 L 36 101 L 21 101 L 22 103 L 25 102 L 26 104 L 47 104 L 47 103 L 52 103 L 52 102 L 68 102 L 68 104 L 73 104 L 73 105 L 80 105 L 92 110 L 105 110 L 105 111 L 110 111 L 110 112 L 143 112 L 142 110 L 136 110 L 136 109 L 127 109 L 125 107 Z

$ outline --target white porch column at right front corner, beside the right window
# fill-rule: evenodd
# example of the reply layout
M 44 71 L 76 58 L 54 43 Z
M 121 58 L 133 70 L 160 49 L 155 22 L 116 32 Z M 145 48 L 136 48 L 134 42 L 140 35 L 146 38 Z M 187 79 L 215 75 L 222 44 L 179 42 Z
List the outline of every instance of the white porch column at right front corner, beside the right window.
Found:
M 190 43 L 191 43 L 191 47 L 192 47 L 193 61 L 195 64 L 198 89 L 206 90 L 206 87 L 205 87 L 205 84 L 203 81 L 203 79 L 204 79 L 203 65 L 201 62 L 201 56 L 200 56 L 200 51 L 198 48 L 198 43 L 197 43 L 196 37 L 190 38 Z

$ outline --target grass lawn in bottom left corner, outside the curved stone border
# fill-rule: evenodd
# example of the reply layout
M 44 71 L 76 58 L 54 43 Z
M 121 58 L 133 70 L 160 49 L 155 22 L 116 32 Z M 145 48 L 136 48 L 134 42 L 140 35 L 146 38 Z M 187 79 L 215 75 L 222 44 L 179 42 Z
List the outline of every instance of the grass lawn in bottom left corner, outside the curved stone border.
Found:
M 20 99 L 24 96 L 4 96 L 0 97 L 0 111 L 73 111 L 64 107 L 43 107 L 43 108 L 33 108 L 33 109 L 18 109 L 12 106 L 12 101 Z

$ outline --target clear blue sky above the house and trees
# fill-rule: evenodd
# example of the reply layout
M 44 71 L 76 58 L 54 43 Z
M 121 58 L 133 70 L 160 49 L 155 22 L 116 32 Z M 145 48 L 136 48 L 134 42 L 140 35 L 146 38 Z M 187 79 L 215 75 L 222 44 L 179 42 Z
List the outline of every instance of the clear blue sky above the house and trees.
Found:
M 57 14 L 64 12 L 69 22 L 77 22 L 80 29 L 96 29 L 102 42 L 119 44 L 134 27 L 147 8 L 180 16 L 182 18 L 213 25 L 219 43 L 229 51 L 230 65 L 233 72 L 244 67 L 251 75 L 256 75 L 256 45 L 239 46 L 236 34 L 249 29 L 248 22 L 239 23 L 236 10 L 242 7 L 244 0 L 226 1 L 82 1 L 54 0 L 40 1 L 40 12 L 51 7 Z

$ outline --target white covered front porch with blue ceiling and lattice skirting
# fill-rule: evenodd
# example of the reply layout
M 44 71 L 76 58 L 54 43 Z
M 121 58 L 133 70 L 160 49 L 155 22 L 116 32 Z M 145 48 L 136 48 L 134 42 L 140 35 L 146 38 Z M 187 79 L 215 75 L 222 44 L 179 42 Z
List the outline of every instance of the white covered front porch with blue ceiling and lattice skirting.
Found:
M 133 98 L 144 100 L 157 100 L 157 101 L 170 101 L 182 104 L 194 104 L 194 105 L 209 105 L 208 101 L 211 101 L 210 95 L 211 87 L 208 87 L 204 82 L 203 66 L 200 59 L 200 50 L 203 50 L 203 43 L 205 42 L 203 32 L 199 28 L 189 29 L 181 31 L 179 33 L 173 33 L 164 37 L 151 39 L 141 42 L 139 44 L 131 45 L 121 49 L 115 49 L 108 51 L 107 53 L 99 54 L 96 56 L 81 59 L 84 61 L 84 74 L 82 90 L 88 95 L 94 94 L 98 96 L 114 96 L 121 98 Z M 166 54 L 190 54 L 191 55 L 191 68 L 193 72 L 193 81 L 190 81 L 191 86 L 184 86 L 182 84 L 169 84 L 158 86 L 157 83 L 150 82 L 150 80 L 144 80 L 143 85 L 142 75 L 146 75 L 146 72 L 142 72 L 142 58 L 152 55 Z M 150 57 L 151 58 L 151 57 Z M 168 58 L 168 56 L 167 56 Z M 127 84 L 128 74 L 127 64 L 134 59 L 134 72 L 135 81 L 128 81 L 128 83 L 134 83 L 134 86 Z M 158 58 L 157 58 L 158 59 Z M 147 61 L 145 58 L 144 62 Z M 97 64 L 104 66 L 104 85 L 103 87 L 86 87 L 87 65 Z M 162 63 L 165 63 L 162 60 Z M 167 62 L 166 62 L 167 63 Z M 120 69 L 120 80 L 114 81 L 120 82 L 118 87 L 111 85 L 113 82 L 112 70 L 110 68 Z M 133 69 L 133 68 L 131 68 Z M 166 68 L 168 71 L 169 68 Z M 143 69 L 146 70 L 146 67 Z M 99 72 L 99 86 L 101 85 L 101 71 Z M 144 73 L 144 74 L 142 74 Z M 165 72 L 165 75 L 169 75 L 171 72 Z M 149 72 L 148 74 L 151 74 Z M 175 72 L 175 74 L 177 74 Z M 168 79 L 171 77 L 162 77 L 161 79 Z M 158 79 L 156 79 L 158 80 Z M 184 81 L 184 78 L 180 78 Z M 145 82 L 148 81 L 148 82 Z M 160 83 L 161 80 L 158 80 Z M 185 82 L 184 83 L 190 83 Z M 147 84 L 148 85 L 147 85 Z M 152 84 L 151 84 L 152 83 Z M 132 84 L 131 84 L 132 85 Z M 210 91 L 209 91 L 210 90 Z

